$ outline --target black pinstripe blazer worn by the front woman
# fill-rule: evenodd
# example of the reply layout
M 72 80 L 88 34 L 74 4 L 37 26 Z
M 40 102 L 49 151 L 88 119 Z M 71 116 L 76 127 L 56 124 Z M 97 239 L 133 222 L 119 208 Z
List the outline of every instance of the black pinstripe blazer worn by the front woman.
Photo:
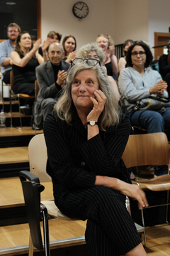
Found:
M 57 117 L 55 111 L 45 119 L 47 173 L 52 177 L 55 193 L 73 188 L 94 186 L 96 175 L 112 176 L 130 183 L 121 159 L 130 134 L 130 121 L 124 115 L 120 124 L 87 140 L 87 131 L 77 111 L 72 125 Z

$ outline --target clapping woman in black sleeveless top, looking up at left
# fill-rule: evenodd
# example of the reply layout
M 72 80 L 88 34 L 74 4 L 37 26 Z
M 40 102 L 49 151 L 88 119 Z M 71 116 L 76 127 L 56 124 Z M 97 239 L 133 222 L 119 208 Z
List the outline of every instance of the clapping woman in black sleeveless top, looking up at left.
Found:
M 16 38 L 15 50 L 11 53 L 11 64 L 14 77 L 13 91 L 17 93 L 35 94 L 35 68 L 44 62 L 39 53 L 36 53 L 41 40 L 33 45 L 30 33 L 21 32 Z

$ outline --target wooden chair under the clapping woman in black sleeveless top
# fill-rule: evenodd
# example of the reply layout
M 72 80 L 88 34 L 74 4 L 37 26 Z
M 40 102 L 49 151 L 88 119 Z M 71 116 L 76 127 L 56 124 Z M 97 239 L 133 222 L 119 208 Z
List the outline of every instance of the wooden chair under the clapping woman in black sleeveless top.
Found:
M 11 90 L 10 90 L 11 127 L 12 127 L 12 105 L 13 104 L 18 104 L 18 107 L 19 107 L 19 117 L 20 117 L 20 126 L 22 127 L 21 109 L 20 109 L 20 98 L 22 98 L 22 99 L 34 99 L 35 96 L 32 96 L 32 95 L 30 96 L 30 95 L 27 95 L 27 94 L 24 94 L 24 93 L 18 93 L 18 94 L 15 95 L 13 93 L 13 85 L 14 85 L 13 71 L 10 72 L 10 83 L 11 83 Z

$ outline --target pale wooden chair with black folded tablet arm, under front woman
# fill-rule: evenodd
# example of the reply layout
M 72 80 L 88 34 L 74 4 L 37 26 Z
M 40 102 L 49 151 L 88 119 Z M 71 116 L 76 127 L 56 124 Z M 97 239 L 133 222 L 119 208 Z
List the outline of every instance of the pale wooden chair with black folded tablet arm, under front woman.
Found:
M 45 189 L 40 182 L 51 181 L 50 176 L 46 173 L 47 148 L 44 134 L 35 135 L 35 137 L 30 140 L 28 154 L 30 171 L 20 171 L 19 176 L 23 187 L 23 196 L 26 203 L 26 213 L 30 227 L 29 256 L 33 255 L 33 245 L 38 250 L 43 250 L 40 221 L 43 223 L 45 255 L 49 256 L 48 218 L 60 218 L 62 220 L 77 219 L 71 219 L 62 214 L 57 206 L 55 206 L 54 201 L 40 201 L 40 193 Z M 38 177 L 40 177 L 40 180 Z

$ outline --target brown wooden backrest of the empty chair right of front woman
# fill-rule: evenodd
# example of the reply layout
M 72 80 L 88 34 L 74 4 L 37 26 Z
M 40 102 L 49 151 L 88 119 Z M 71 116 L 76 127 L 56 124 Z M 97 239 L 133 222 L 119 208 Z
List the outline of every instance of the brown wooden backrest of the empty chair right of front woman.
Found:
M 130 135 L 123 153 L 127 168 L 145 165 L 169 165 L 169 144 L 166 134 Z

